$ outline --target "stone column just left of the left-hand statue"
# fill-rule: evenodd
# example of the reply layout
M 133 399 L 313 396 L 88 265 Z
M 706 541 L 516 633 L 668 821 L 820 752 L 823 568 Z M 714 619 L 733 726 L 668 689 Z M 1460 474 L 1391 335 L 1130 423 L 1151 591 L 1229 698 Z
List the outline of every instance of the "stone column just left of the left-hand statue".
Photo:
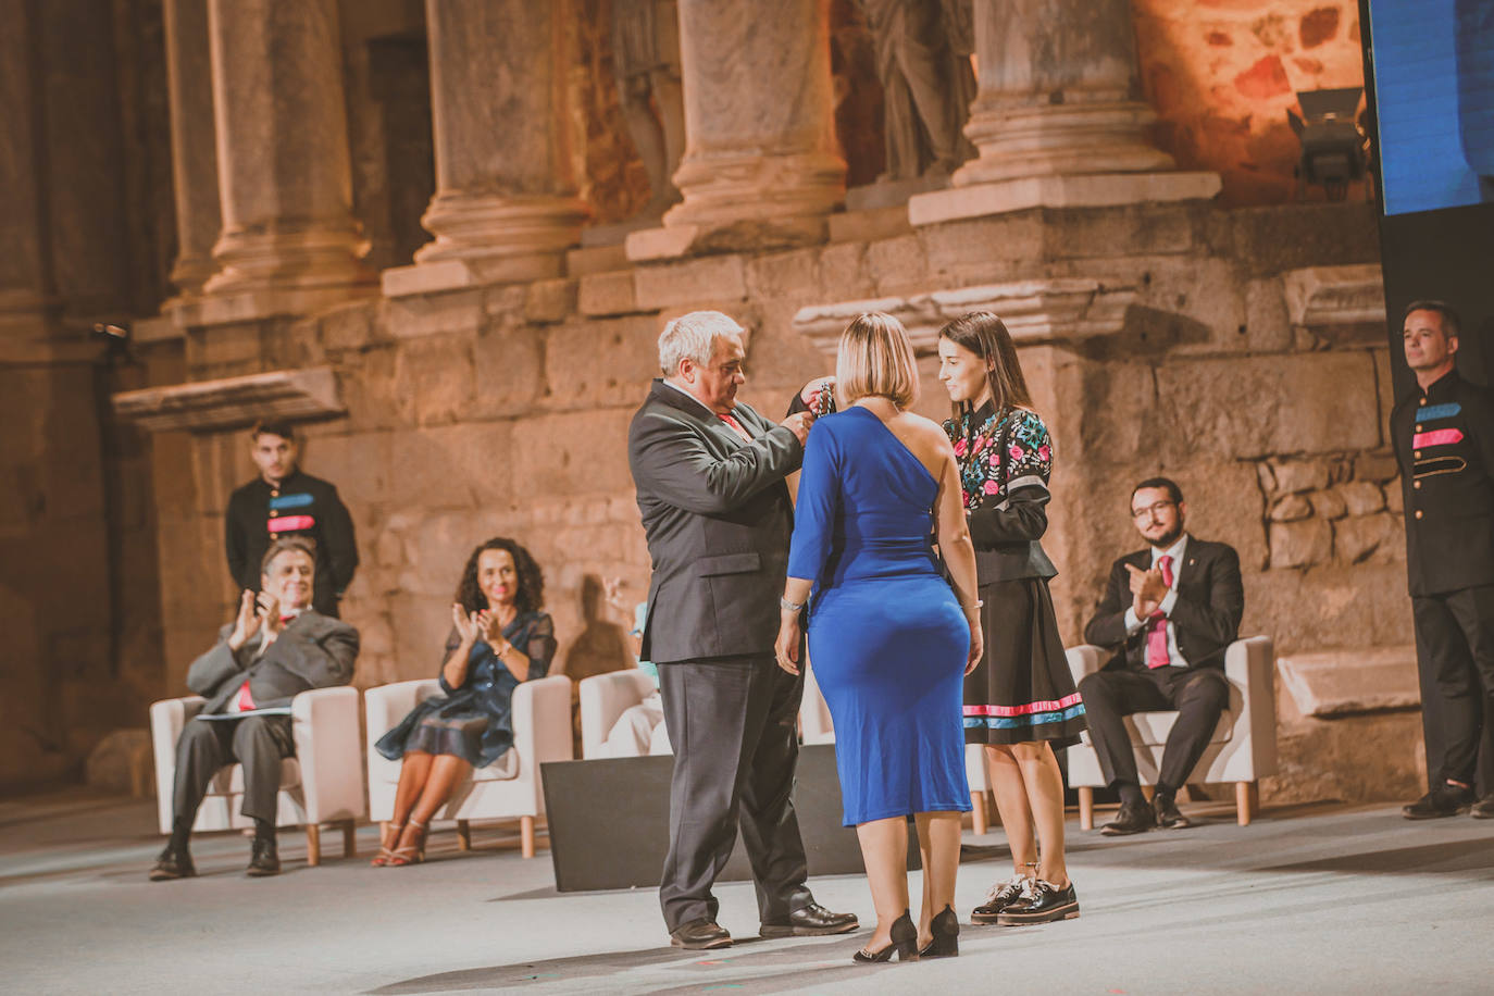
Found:
M 532 0 L 426 0 L 436 196 L 435 236 L 385 294 L 559 276 L 586 205 L 566 125 L 562 16 Z

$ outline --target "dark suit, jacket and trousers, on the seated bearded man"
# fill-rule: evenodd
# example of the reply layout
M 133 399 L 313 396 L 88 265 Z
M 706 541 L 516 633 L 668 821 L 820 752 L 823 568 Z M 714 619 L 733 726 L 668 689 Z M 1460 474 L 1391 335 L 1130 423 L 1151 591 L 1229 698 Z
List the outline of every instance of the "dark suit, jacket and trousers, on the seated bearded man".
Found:
M 1158 774 L 1159 791 L 1177 791 L 1230 703 L 1224 651 L 1239 636 L 1245 614 L 1240 555 L 1227 544 L 1188 538 L 1183 563 L 1176 569 L 1177 602 L 1168 617 L 1186 667 L 1147 667 L 1147 627 L 1126 633 L 1125 611 L 1132 600 L 1126 564 L 1150 569 L 1152 551 L 1138 550 L 1112 566 L 1104 600 L 1085 627 L 1085 639 L 1115 653 L 1101 670 L 1079 682 L 1079 694 L 1100 768 L 1112 788 L 1140 784 L 1123 718 L 1132 712 L 1177 709 Z

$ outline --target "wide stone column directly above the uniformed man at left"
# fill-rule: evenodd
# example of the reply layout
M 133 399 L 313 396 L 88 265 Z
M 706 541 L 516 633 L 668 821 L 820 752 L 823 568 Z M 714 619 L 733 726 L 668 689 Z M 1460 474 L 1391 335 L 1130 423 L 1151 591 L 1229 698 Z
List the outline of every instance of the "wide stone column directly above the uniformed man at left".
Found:
M 371 282 L 353 218 L 336 0 L 211 0 L 223 234 L 208 294 L 235 318 L 303 311 Z

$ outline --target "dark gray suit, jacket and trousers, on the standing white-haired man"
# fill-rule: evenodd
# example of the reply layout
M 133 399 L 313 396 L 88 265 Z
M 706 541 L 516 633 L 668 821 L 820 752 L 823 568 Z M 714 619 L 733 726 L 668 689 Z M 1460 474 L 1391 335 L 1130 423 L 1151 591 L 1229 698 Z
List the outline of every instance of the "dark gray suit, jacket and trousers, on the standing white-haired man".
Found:
M 784 478 L 804 449 L 747 405 L 734 415 L 751 442 L 656 379 L 627 433 L 653 561 L 642 657 L 659 666 L 675 759 L 659 885 L 671 932 L 716 918 L 738 821 L 763 921 L 810 902 L 790 800 L 804 679 L 772 654 L 793 530 Z

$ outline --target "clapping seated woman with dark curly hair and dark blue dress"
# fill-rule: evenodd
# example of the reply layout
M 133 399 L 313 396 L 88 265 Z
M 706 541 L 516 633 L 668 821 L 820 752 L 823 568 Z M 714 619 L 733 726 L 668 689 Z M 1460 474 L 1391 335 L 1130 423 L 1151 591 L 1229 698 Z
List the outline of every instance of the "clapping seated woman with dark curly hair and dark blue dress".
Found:
M 426 824 L 451 790 L 514 745 L 514 688 L 544 678 L 556 653 L 554 624 L 539 609 L 544 594 L 539 566 L 512 539 L 498 536 L 468 557 L 441 664 L 445 694 L 417 705 L 374 745 L 403 759 L 376 868 L 424 860 Z

